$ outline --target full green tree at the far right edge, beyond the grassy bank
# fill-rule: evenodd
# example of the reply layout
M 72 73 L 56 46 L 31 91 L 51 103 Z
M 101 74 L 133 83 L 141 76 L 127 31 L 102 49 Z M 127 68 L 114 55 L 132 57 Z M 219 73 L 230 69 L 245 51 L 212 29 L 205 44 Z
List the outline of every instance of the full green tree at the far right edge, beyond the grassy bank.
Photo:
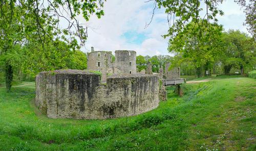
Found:
M 239 30 L 229 30 L 223 34 L 223 63 L 225 74 L 229 74 L 232 67 L 241 70 L 244 74 L 244 68 L 250 68 L 254 64 L 255 41 L 247 34 Z

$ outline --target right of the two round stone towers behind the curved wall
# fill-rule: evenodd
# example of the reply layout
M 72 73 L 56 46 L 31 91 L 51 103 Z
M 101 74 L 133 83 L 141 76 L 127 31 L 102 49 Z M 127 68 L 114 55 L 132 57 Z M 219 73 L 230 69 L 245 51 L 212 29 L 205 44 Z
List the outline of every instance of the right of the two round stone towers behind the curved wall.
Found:
M 136 73 L 136 52 L 135 51 L 115 51 L 114 66 L 120 69 L 121 74 Z

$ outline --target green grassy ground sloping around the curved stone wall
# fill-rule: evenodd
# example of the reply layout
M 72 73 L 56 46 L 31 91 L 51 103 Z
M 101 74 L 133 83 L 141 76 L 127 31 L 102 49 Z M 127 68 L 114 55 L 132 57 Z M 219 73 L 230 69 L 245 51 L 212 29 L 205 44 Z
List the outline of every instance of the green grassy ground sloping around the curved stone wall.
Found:
M 41 115 L 34 85 L 0 88 L 0 150 L 256 149 L 256 80 L 218 77 L 183 89 L 179 98 L 169 87 L 167 102 L 142 115 L 72 120 Z

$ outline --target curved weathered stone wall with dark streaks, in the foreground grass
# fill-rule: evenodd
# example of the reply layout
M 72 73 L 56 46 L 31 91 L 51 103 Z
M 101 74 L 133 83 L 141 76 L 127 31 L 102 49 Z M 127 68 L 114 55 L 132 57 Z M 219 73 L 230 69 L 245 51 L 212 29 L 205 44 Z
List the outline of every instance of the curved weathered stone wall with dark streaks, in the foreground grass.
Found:
M 109 77 L 84 70 L 36 76 L 36 106 L 50 118 L 105 119 L 137 115 L 159 104 L 159 78 L 149 74 Z

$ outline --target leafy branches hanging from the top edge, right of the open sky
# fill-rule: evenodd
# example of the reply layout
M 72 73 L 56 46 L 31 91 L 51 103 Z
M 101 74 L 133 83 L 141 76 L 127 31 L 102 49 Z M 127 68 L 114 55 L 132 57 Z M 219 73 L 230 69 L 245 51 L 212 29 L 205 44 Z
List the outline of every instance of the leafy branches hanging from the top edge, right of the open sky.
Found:
M 203 3 L 203 4 L 201 4 Z M 159 8 L 165 8 L 165 13 L 168 14 L 169 30 L 164 37 L 175 38 L 177 34 L 186 29 L 189 21 L 194 22 L 199 26 L 200 29 L 195 29 L 193 35 L 195 37 L 205 38 L 207 35 L 204 34 L 204 29 L 210 29 L 211 22 L 217 23 L 217 15 L 223 15 L 224 13 L 218 9 L 218 4 L 222 3 L 222 0 L 218 1 L 175 1 L 175 0 L 156 0 L 156 6 Z M 200 7 L 203 6 L 204 7 Z M 199 15 L 204 11 L 205 15 Z M 204 16 L 204 17 L 202 17 Z M 200 23 L 200 20 L 205 20 L 205 23 Z

